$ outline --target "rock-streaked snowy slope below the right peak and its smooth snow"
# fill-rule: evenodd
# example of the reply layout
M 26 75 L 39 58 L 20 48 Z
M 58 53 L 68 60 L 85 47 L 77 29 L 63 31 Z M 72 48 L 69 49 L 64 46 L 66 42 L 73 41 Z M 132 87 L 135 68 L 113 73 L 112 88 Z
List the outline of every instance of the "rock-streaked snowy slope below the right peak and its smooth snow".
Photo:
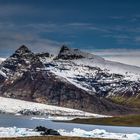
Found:
M 140 93 L 139 75 L 115 74 L 108 70 L 87 64 L 77 64 L 70 60 L 55 60 L 46 64 L 46 70 L 67 79 L 69 82 L 99 96 Z

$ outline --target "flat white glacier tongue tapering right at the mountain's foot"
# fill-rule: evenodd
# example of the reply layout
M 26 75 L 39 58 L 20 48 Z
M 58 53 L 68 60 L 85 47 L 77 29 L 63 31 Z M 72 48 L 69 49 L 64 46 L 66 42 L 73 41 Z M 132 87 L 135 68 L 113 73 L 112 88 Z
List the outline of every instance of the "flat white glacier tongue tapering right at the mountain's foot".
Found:
M 46 105 L 41 103 L 34 103 L 28 101 L 22 101 L 11 98 L 0 97 L 0 111 L 6 113 L 17 114 L 19 111 L 29 110 L 34 112 L 41 112 L 48 115 L 58 116 L 78 116 L 78 117 L 106 117 L 105 115 L 92 114 L 80 110 L 57 107 L 52 105 Z

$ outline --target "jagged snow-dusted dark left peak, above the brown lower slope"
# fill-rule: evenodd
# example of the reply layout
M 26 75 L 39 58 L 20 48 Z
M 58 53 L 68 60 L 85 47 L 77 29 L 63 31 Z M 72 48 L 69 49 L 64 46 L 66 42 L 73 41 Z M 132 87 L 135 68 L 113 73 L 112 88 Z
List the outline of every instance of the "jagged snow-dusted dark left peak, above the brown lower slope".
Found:
M 0 71 L 6 77 L 3 85 L 11 84 L 20 79 L 25 72 L 35 72 L 43 67 L 44 65 L 39 60 L 39 57 L 22 45 L 0 65 Z

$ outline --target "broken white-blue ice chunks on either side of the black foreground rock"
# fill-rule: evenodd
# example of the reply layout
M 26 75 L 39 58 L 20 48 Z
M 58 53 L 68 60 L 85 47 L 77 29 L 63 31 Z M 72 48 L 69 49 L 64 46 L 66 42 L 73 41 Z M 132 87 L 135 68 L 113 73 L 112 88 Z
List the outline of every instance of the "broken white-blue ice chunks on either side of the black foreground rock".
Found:
M 59 129 L 58 132 L 62 136 L 107 138 L 119 140 L 140 140 L 139 134 L 109 133 L 101 129 L 95 129 L 92 131 L 85 131 L 80 128 L 74 128 L 72 131 Z M 40 133 L 35 132 L 33 129 L 28 128 L 0 127 L 0 137 L 27 137 L 27 136 L 40 136 Z

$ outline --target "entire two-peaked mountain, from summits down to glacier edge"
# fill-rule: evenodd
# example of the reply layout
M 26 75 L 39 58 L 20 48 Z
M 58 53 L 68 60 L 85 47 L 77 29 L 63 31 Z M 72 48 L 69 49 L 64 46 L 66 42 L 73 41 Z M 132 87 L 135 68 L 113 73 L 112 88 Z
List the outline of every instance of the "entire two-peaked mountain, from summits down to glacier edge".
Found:
M 0 65 L 0 95 L 100 114 L 139 111 L 140 68 L 67 46 L 51 56 L 21 46 Z

